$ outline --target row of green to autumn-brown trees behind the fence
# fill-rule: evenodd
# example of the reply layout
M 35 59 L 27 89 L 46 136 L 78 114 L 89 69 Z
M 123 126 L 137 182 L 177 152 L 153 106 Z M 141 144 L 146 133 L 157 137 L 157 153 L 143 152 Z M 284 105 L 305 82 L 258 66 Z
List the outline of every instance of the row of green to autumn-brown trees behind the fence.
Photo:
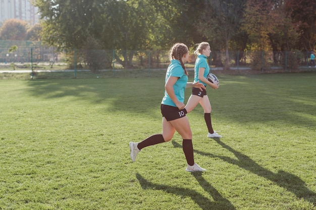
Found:
M 280 63 L 285 52 L 295 59 L 296 51 L 309 52 L 316 42 L 316 0 L 34 0 L 33 4 L 41 16 L 39 37 L 48 46 L 66 52 L 116 49 L 115 58 L 125 67 L 138 50 L 166 50 L 175 42 L 192 48 L 209 42 L 213 51 L 225 51 L 224 58 L 214 54 L 213 63 L 226 68 L 231 51 L 238 51 L 241 59 L 245 51 L 271 50 L 273 62 Z M 2 35 L 5 25 L 0 39 L 10 39 Z M 91 53 L 85 56 L 87 63 L 95 58 Z

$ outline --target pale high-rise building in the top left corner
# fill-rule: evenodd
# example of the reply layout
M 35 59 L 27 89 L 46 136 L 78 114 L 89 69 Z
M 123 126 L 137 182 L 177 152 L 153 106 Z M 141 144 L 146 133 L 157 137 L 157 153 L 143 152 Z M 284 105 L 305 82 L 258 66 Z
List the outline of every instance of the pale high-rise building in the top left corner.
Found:
M 0 0 L 0 22 L 14 18 L 25 20 L 30 25 L 38 23 L 38 8 L 30 0 Z

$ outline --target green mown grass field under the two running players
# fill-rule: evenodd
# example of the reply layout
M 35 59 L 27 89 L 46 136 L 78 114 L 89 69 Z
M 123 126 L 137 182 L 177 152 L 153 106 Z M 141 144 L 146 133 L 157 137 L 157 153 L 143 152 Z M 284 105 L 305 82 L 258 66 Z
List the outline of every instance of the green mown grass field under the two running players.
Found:
M 315 73 L 219 75 L 223 138 L 188 114 L 204 173 L 179 134 L 130 160 L 161 132 L 161 75 L 0 81 L 0 209 L 316 209 Z

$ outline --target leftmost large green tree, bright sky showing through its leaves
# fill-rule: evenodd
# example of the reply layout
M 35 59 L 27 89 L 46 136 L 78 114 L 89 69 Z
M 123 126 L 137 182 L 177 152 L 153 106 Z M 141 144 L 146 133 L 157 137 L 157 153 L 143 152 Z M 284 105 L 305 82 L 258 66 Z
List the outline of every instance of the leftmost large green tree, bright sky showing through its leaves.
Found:
M 58 49 L 73 49 L 83 45 L 94 21 L 93 12 L 96 8 L 91 8 L 91 2 L 35 0 L 34 5 L 39 8 L 43 20 L 42 39 L 45 43 Z

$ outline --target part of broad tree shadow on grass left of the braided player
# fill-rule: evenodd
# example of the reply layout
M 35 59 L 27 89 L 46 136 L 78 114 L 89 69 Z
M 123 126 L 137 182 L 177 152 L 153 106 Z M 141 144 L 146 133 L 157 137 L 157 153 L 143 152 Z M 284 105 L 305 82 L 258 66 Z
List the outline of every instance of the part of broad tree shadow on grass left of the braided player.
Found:
M 152 110 L 160 109 L 164 86 L 159 85 L 160 88 L 157 88 L 157 84 L 163 84 L 163 80 L 150 81 L 151 86 L 147 82 L 146 88 L 139 88 L 141 79 L 35 80 L 28 83 L 28 91 L 41 100 L 72 97 L 74 101 L 104 104 L 110 112 L 129 111 L 151 115 Z

